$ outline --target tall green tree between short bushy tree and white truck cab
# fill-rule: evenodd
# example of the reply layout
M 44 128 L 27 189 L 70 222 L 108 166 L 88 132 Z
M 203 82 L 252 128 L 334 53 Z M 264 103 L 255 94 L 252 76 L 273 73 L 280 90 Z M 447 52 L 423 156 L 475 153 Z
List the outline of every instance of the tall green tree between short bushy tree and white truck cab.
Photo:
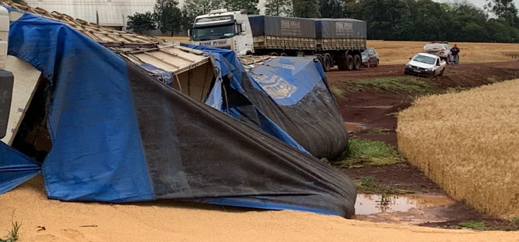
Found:
M 182 24 L 185 21 L 178 5 L 179 2 L 175 0 L 157 0 L 155 3 L 155 21 L 162 33 L 171 31 L 171 36 L 173 36 L 175 32 L 182 30 Z

